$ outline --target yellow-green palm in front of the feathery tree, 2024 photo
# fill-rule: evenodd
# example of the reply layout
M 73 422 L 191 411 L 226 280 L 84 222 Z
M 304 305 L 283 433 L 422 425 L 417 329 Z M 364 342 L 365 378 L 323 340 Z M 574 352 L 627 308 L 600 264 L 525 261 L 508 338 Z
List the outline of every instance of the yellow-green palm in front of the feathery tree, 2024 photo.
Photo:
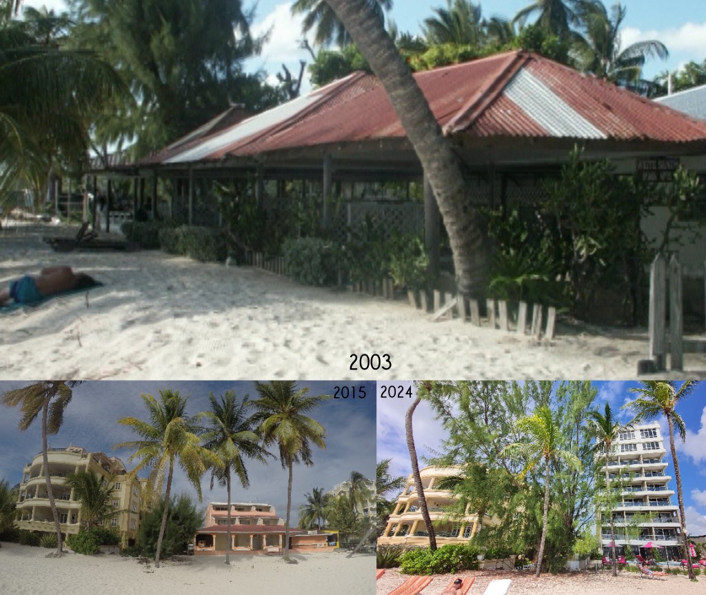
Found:
M 537 553 L 537 570 L 534 574 L 539 577 L 542 571 L 542 558 L 544 557 L 544 542 L 546 541 L 546 528 L 549 520 L 549 483 L 551 481 L 551 464 L 561 461 L 567 467 L 576 471 L 581 468 L 581 462 L 573 454 L 561 448 L 563 435 L 561 425 L 556 421 L 554 414 L 547 405 L 539 405 L 534 409 L 534 414 L 517 420 L 516 430 L 520 435 L 527 436 L 527 441 L 507 445 L 503 453 L 510 457 L 520 457 L 525 461 L 525 467 L 520 472 L 522 479 L 539 462 L 544 462 L 544 512 L 542 513 L 542 537 L 539 541 Z

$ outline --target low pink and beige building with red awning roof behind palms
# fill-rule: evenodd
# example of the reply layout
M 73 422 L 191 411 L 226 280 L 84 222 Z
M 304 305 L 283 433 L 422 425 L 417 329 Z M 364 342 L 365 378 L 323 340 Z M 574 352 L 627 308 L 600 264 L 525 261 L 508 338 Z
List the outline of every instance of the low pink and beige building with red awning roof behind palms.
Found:
M 231 503 L 230 550 L 234 553 L 280 553 L 285 547 L 285 520 L 275 507 L 263 503 Z M 193 540 L 196 555 L 222 554 L 228 548 L 228 504 L 212 502 L 206 508 L 204 527 Z M 289 530 L 292 551 L 325 551 L 337 547 L 335 531 Z

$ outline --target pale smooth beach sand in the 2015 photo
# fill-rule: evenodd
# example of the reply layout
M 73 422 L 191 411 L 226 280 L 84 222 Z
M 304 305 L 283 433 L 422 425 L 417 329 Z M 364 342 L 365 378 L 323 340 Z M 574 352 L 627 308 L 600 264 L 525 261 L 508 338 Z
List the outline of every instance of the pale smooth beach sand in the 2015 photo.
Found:
M 136 558 L 68 553 L 47 558 L 49 550 L 3 543 L 0 593 L 101 593 L 105 595 L 292 594 L 349 595 L 375 593 L 375 557 L 345 553 L 294 555 L 297 564 L 263 555 L 181 558 L 159 568 Z

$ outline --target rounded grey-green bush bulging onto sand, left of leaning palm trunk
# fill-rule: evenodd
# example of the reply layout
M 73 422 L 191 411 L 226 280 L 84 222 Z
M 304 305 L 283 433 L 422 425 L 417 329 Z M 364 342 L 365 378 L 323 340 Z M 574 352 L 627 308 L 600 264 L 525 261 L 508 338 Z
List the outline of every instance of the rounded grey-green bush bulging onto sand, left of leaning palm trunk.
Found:
M 289 277 L 304 285 L 328 285 L 335 280 L 333 250 L 321 238 L 290 238 L 282 246 Z

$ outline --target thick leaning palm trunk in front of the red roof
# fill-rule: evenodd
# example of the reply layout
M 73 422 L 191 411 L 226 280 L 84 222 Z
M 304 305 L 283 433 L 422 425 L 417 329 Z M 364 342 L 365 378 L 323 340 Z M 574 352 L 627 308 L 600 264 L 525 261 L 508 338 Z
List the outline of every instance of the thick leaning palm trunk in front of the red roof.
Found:
M 327 1 L 383 84 L 429 179 L 448 233 L 458 291 L 477 296 L 484 282 L 483 238 L 458 156 L 366 0 Z

